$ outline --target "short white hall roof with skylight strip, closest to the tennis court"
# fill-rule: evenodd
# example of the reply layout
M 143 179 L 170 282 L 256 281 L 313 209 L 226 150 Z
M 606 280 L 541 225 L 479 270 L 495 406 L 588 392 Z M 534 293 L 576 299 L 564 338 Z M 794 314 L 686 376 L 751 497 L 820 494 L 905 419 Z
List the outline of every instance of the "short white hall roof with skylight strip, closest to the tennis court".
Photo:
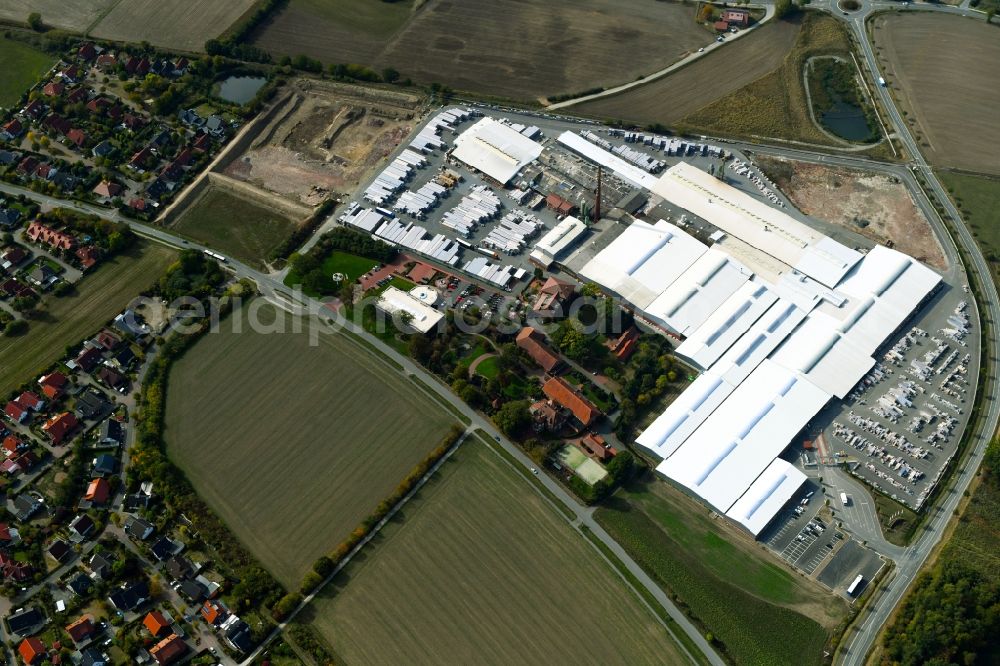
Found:
M 667 458 L 733 392 L 734 386 L 718 375 L 699 375 L 670 406 L 646 428 L 636 443 Z

